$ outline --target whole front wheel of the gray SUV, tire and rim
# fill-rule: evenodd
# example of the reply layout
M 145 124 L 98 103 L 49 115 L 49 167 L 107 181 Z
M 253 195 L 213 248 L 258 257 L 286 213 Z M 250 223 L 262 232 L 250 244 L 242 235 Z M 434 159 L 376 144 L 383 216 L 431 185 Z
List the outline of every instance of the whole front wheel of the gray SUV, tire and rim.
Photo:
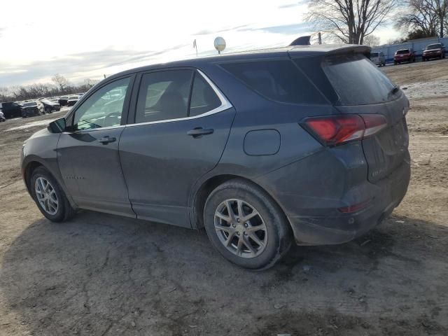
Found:
M 67 221 L 76 213 L 59 183 L 43 167 L 36 168 L 32 173 L 30 190 L 38 209 L 50 221 Z

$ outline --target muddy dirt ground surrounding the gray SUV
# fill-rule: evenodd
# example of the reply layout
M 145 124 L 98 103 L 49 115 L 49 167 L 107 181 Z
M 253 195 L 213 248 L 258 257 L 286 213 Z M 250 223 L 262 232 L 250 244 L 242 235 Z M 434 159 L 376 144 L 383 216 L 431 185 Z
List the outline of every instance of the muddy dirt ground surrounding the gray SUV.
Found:
M 204 232 L 46 221 L 19 155 L 43 127 L 26 125 L 55 115 L 1 123 L 0 335 L 448 335 L 448 59 L 383 69 L 412 97 L 405 200 L 365 237 L 295 246 L 266 272 L 230 265 Z

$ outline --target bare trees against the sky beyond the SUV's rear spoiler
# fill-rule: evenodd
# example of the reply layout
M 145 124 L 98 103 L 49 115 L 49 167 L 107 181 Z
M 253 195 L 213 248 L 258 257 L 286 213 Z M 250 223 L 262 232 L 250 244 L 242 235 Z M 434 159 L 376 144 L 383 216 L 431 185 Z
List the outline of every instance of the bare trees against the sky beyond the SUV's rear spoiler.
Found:
M 383 25 L 402 31 L 400 42 L 448 34 L 448 0 L 313 0 L 308 9 L 306 20 L 332 42 L 376 46 Z

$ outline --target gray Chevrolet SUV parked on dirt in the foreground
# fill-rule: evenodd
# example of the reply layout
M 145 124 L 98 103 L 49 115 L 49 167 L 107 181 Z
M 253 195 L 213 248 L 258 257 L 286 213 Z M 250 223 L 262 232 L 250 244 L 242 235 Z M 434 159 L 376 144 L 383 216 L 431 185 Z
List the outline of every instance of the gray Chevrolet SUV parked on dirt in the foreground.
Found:
M 308 45 L 118 73 L 25 141 L 23 179 L 50 221 L 90 209 L 205 228 L 248 269 L 293 241 L 350 241 L 409 183 L 409 102 L 369 54 Z

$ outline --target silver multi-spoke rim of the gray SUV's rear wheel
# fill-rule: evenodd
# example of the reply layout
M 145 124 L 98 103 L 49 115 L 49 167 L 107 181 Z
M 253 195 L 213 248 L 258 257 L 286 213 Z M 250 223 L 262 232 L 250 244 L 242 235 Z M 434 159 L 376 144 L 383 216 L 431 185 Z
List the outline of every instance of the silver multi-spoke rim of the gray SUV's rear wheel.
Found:
M 219 240 L 241 258 L 255 258 L 265 251 L 267 230 L 260 213 L 243 200 L 225 200 L 215 211 L 214 225 Z

